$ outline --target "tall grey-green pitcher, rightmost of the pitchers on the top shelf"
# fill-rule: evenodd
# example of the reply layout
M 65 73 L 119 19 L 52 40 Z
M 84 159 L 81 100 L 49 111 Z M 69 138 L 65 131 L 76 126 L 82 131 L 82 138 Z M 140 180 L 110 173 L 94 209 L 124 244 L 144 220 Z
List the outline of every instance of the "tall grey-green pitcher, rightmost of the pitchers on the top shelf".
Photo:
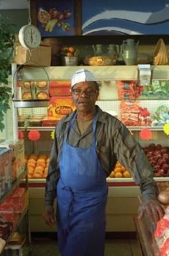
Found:
M 123 40 L 123 60 L 126 65 L 137 64 L 137 49 L 139 41 L 136 43 L 134 39 Z

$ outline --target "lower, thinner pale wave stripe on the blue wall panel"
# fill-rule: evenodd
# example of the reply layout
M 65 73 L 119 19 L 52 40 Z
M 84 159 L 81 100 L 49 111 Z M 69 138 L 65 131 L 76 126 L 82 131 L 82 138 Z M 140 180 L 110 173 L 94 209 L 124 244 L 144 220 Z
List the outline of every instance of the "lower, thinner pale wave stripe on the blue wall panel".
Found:
M 123 32 L 125 34 L 143 34 L 138 31 L 131 31 L 130 29 L 124 29 L 119 27 L 100 27 L 99 29 L 91 29 L 91 31 L 83 32 L 83 35 L 90 34 L 92 32 L 97 32 L 97 31 L 118 31 L 118 32 Z

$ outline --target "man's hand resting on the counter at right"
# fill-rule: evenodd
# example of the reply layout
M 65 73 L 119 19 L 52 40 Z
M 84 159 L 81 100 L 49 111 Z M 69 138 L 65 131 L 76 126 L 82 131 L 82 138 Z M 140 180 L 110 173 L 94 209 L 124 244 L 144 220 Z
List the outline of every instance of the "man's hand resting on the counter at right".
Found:
M 141 206 L 139 206 L 138 210 L 138 218 L 144 216 L 144 213 L 147 214 L 148 218 L 150 218 L 150 222 L 155 223 L 158 222 L 164 216 L 164 208 L 156 199 L 147 199 L 142 202 Z

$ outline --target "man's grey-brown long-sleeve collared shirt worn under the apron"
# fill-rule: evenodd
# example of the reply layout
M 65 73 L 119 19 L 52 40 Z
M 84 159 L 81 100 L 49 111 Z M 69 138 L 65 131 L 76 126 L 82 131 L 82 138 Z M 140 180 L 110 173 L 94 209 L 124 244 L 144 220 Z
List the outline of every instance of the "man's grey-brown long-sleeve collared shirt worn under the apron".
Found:
M 56 198 L 56 184 L 60 176 L 58 160 L 66 135 L 66 128 L 70 124 L 73 115 L 74 112 L 62 118 L 58 125 L 56 125 L 48 176 L 46 178 L 46 205 L 53 205 L 54 198 Z M 96 152 L 107 176 L 109 176 L 117 160 L 119 160 L 131 172 L 135 182 L 140 186 L 143 199 L 156 198 L 158 189 L 153 180 L 153 169 L 135 137 L 131 135 L 130 131 L 121 121 L 102 111 L 97 105 L 96 122 Z M 81 135 L 78 123 L 75 121 L 72 129 L 70 129 L 68 143 L 73 147 L 90 147 L 92 135 L 92 125 Z

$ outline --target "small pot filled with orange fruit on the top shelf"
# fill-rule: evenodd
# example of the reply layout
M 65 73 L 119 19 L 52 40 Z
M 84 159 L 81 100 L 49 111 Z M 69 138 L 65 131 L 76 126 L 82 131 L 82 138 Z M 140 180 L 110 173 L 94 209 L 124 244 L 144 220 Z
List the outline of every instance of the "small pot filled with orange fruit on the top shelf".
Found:
M 77 66 L 80 51 L 74 47 L 64 47 L 60 52 L 63 66 Z

